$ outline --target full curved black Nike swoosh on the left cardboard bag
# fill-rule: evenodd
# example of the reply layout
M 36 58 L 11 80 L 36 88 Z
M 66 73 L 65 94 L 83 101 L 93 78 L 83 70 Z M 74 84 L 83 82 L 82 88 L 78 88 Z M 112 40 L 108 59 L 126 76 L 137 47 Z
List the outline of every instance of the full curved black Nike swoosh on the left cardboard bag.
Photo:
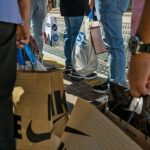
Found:
M 32 130 L 31 124 L 32 124 L 32 120 L 30 121 L 27 127 L 27 131 L 26 131 L 27 138 L 29 139 L 30 142 L 38 143 L 38 142 L 42 142 L 51 138 L 53 129 L 51 130 L 51 132 L 47 132 L 47 133 L 35 133 Z

